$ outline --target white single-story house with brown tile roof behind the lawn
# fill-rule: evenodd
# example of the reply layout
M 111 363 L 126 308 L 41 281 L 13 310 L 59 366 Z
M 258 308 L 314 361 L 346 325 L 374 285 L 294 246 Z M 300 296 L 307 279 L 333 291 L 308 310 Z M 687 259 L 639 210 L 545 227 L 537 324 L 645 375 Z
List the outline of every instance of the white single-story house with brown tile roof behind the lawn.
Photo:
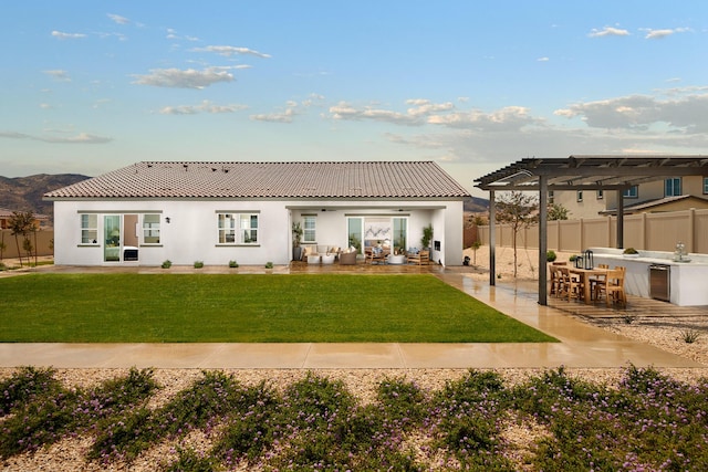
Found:
M 288 264 L 303 244 L 420 247 L 462 264 L 470 197 L 430 161 L 137 162 L 44 195 L 58 265 Z

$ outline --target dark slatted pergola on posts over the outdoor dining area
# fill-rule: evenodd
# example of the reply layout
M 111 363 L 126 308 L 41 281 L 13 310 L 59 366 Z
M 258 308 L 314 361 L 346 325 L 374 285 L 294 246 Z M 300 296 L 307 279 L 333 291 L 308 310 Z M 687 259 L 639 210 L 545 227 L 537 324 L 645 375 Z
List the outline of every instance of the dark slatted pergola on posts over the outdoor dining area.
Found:
M 617 248 L 624 247 L 624 191 L 638 183 L 667 177 L 708 176 L 708 156 L 570 156 L 527 158 L 475 180 L 489 191 L 489 284 L 494 285 L 494 192 L 539 192 L 539 304 L 546 305 L 549 191 L 615 190 L 617 192 Z

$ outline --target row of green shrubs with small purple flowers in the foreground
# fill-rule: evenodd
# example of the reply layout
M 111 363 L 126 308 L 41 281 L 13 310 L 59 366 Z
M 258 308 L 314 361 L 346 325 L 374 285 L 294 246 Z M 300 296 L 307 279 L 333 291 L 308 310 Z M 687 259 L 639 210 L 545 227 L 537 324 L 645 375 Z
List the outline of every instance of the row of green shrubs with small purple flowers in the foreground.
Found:
M 18 369 L 0 382 L 0 457 L 82 434 L 93 441 L 87 459 L 107 469 L 175 441 L 163 470 L 708 470 L 708 379 L 687 385 L 652 368 L 629 366 L 616 386 L 564 368 L 513 388 L 493 371 L 470 370 L 437 391 L 386 378 L 367 405 L 313 374 L 275 390 L 205 371 L 149 409 L 152 375 L 132 369 L 79 389 L 51 369 Z M 506 436 L 513 424 L 543 433 L 519 448 Z M 197 429 L 211 449 L 184 444 Z

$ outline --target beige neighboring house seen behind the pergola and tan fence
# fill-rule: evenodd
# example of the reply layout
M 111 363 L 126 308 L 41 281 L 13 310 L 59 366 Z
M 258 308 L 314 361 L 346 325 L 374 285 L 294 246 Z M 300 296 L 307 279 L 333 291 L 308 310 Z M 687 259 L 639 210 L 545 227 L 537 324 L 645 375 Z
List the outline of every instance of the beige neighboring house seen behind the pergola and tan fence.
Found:
M 708 177 L 671 177 L 665 180 L 641 183 L 623 193 L 624 212 L 679 211 L 690 208 L 708 208 Z M 615 214 L 615 191 L 556 191 L 549 193 L 549 202 L 569 210 L 570 219 L 597 218 Z

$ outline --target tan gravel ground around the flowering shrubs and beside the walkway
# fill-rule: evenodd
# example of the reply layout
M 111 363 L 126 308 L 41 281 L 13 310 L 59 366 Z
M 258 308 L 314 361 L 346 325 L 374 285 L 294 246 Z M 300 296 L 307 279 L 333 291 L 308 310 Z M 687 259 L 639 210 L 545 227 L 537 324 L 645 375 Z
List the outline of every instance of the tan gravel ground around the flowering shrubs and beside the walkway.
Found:
M 469 276 L 487 280 L 488 273 L 485 266 L 488 261 L 486 248 L 480 248 L 477 254 L 471 250 L 466 251 L 471 259 L 476 258 L 479 270 L 470 268 Z M 498 273 L 502 281 L 511 280 L 512 273 L 512 250 L 502 248 L 497 251 Z M 566 260 L 570 254 L 559 253 L 559 260 Z M 538 275 L 535 252 L 519 251 L 518 277 L 532 280 Z M 589 322 L 587 319 L 584 319 Z M 685 356 L 708 366 L 708 332 L 706 332 L 706 319 L 693 317 L 673 318 L 671 323 L 660 317 L 635 316 L 627 323 L 627 319 L 611 318 L 592 321 L 593 324 L 605 329 L 618 333 L 632 339 L 658 346 L 665 350 Z M 694 333 L 696 338 L 693 343 L 687 343 L 688 333 Z M 620 388 L 626 367 L 614 369 L 566 369 L 565 374 L 573 379 L 587 380 L 602 384 L 612 388 Z M 298 370 L 298 369 L 250 369 L 250 370 L 222 370 L 225 374 L 233 375 L 240 384 L 244 386 L 258 386 L 266 381 L 277 391 L 283 392 L 289 386 L 302 381 L 309 375 L 319 378 L 341 380 L 345 389 L 351 392 L 360 406 L 376 403 L 377 388 L 387 379 L 400 379 L 402 381 L 415 382 L 426 396 L 433 396 L 449 386 L 450 382 L 458 381 L 469 375 L 467 369 L 323 369 L 323 370 Z M 503 380 L 506 388 L 522 385 L 531 378 L 543 376 L 543 369 L 496 369 L 494 373 Z M 708 377 L 708 370 L 700 369 L 659 369 L 663 375 L 670 377 L 686 385 L 704 386 L 704 379 Z M 0 369 L 0 380 L 10 378 L 17 369 Z M 128 374 L 127 369 L 58 369 L 54 377 L 65 387 L 75 389 L 91 389 L 102 382 Z M 147 400 L 146 407 L 150 410 L 159 409 L 174 399 L 179 392 L 189 388 L 195 381 L 204 376 L 198 369 L 155 369 L 154 380 L 159 385 L 159 389 Z M 10 416 L 0 417 L 0 427 L 4 424 Z M 704 420 L 705 424 L 705 420 Z M 514 464 L 512 470 L 538 470 L 529 463 L 528 454 L 533 444 L 549 436 L 550 426 L 543 426 L 537 421 L 507 422 L 502 429 L 502 438 L 507 444 L 506 455 Z M 165 466 L 167 462 L 178 457 L 180 449 L 194 449 L 206 453 L 214 445 L 214 434 L 205 432 L 202 429 L 195 429 L 178 439 L 164 440 L 140 452 L 134 460 L 102 462 L 98 460 L 87 460 L 88 451 L 92 448 L 94 437 L 91 434 L 67 434 L 59 441 L 48 447 L 41 447 L 34 452 L 24 452 L 0 459 L 2 470 L 28 471 L 28 470 L 51 470 L 51 471 L 153 471 Z M 430 451 L 429 439 L 412 434 L 406 438 L 406 444 L 416 452 L 416 459 L 427 464 L 430 470 L 455 470 L 460 463 L 450 462 L 449 457 L 436 457 L 435 451 Z M 631 460 L 628 460 L 632 462 Z M 197 469 L 192 469 L 197 470 Z M 231 470 L 262 470 L 260 468 L 239 463 Z M 650 470 L 646 469 L 646 470 Z M 698 469 L 694 469 L 698 470 Z

